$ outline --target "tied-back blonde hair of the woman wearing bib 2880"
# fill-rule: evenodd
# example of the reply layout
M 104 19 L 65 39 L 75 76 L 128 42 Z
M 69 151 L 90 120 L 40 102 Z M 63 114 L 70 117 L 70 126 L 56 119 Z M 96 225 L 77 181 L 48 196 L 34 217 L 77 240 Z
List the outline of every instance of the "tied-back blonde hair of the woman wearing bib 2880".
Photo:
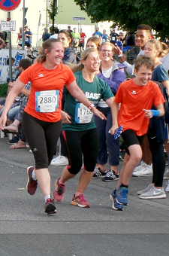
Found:
M 62 43 L 62 41 L 60 41 L 59 38 L 58 39 L 55 39 L 55 38 L 47 39 L 47 41 L 45 41 L 44 44 L 42 45 L 42 47 L 40 48 L 38 57 L 36 58 L 36 61 L 40 62 L 40 63 L 44 62 L 46 60 L 46 55 L 47 55 L 47 53 L 44 53 L 44 50 L 47 49 L 47 52 L 50 53 L 51 50 L 53 49 L 53 43 L 56 43 L 56 42 Z

